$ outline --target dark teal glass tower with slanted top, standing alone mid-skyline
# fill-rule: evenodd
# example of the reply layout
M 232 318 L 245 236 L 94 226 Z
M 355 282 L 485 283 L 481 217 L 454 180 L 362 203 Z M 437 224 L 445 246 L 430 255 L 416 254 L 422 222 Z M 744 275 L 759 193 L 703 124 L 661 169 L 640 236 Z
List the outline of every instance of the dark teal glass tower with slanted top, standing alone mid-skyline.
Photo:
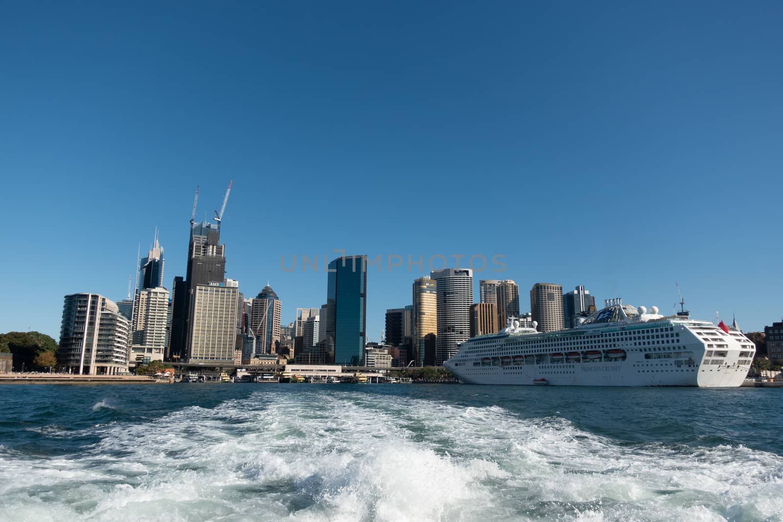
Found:
M 361 365 L 366 340 L 366 256 L 329 263 L 326 348 L 334 364 Z M 323 328 L 323 325 L 321 325 Z

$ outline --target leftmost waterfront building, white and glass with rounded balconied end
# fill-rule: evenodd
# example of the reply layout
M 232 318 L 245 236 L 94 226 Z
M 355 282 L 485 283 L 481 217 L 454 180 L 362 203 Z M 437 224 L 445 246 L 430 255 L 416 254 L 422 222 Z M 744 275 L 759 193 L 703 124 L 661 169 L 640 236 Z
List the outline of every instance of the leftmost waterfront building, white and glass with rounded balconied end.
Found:
M 114 301 L 97 293 L 65 296 L 58 368 L 82 375 L 126 373 L 130 329 Z

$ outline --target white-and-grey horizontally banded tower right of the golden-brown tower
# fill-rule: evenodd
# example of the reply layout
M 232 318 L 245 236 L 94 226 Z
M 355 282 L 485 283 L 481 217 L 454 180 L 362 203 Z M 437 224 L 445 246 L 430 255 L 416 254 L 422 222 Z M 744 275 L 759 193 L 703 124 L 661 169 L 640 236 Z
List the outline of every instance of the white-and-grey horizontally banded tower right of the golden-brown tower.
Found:
M 435 364 L 456 354 L 456 345 L 471 336 L 473 271 L 470 268 L 444 268 L 431 272 L 437 283 L 438 340 Z

